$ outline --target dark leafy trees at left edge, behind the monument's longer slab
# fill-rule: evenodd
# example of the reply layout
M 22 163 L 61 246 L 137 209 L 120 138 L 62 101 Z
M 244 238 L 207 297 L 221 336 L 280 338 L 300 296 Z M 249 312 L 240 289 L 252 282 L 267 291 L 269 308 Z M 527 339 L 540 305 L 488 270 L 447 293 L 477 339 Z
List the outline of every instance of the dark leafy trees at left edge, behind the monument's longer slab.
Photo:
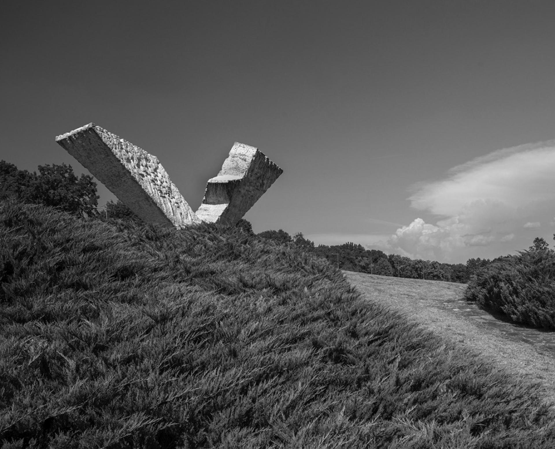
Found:
M 39 165 L 38 171 L 29 173 L 0 160 L 0 200 L 44 204 L 75 215 L 96 213 L 99 196 L 92 176 L 78 178 L 66 164 Z

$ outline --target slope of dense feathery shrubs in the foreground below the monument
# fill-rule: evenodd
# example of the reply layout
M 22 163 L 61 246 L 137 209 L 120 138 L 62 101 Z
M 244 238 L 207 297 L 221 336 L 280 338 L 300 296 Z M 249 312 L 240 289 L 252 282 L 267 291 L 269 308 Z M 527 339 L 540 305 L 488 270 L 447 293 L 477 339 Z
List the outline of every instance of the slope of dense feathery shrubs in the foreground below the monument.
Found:
M 534 388 L 238 230 L 0 206 L 2 447 L 553 447 Z M 1 446 L 1 445 L 0 445 Z

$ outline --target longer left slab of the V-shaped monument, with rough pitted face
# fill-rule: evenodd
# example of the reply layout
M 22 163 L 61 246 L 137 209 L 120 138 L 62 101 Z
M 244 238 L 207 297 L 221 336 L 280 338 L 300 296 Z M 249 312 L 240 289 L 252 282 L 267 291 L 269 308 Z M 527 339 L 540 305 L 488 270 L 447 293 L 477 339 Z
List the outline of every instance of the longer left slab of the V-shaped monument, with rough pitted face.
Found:
M 147 223 L 184 228 L 200 219 L 157 157 L 94 123 L 56 142 Z

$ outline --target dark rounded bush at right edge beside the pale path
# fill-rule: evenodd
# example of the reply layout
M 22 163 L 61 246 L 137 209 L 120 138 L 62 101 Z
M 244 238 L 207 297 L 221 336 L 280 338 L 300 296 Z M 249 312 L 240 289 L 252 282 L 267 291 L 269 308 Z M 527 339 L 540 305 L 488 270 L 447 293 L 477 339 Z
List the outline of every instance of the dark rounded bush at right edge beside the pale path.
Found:
M 555 253 L 521 251 L 498 259 L 477 271 L 465 298 L 514 322 L 555 329 Z

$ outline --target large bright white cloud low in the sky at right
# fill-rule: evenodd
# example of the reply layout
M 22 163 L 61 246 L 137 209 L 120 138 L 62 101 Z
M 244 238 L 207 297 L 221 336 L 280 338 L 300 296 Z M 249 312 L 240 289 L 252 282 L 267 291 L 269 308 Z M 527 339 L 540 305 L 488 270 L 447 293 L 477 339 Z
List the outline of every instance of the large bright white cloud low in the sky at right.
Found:
M 388 248 L 450 260 L 463 248 L 507 243 L 523 228 L 539 229 L 533 219 L 549 221 L 544 214 L 555 203 L 554 170 L 555 141 L 549 141 L 498 150 L 452 168 L 444 179 L 413 186 L 411 206 L 441 220 L 413 220 L 388 239 Z M 532 220 L 522 226 L 523 219 Z

